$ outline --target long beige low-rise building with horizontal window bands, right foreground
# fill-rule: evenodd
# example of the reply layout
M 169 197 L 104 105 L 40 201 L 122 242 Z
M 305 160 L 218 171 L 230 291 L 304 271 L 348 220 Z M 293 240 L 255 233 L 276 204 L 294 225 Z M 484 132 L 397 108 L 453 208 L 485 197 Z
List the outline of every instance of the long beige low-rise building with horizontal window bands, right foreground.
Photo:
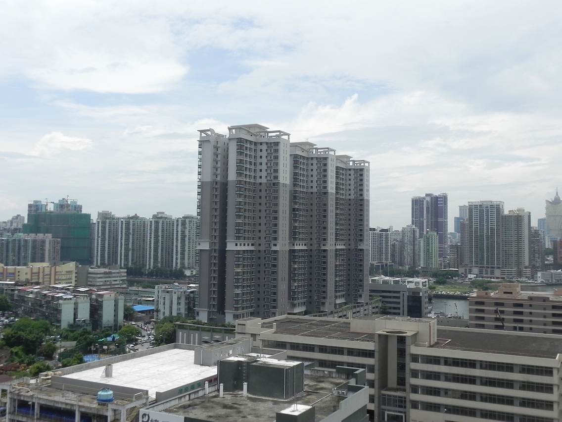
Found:
M 366 369 L 371 420 L 560 420 L 562 338 L 555 335 L 397 316 L 247 318 L 237 321 L 236 333 L 319 370 Z

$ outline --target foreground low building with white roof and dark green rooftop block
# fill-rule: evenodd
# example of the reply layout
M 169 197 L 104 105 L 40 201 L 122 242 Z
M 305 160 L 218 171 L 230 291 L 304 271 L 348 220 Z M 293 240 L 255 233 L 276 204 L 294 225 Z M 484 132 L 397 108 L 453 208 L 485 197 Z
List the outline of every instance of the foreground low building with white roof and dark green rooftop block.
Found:
M 306 370 L 252 340 L 169 344 L 0 384 L 9 422 L 366 422 L 365 371 Z M 330 376 L 331 375 L 331 376 Z

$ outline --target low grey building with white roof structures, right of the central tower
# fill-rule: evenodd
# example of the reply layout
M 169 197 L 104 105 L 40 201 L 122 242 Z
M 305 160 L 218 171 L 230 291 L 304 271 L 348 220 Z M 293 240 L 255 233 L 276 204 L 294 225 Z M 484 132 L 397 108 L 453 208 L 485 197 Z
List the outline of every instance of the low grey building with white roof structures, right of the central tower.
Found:
M 429 312 L 427 279 L 370 277 L 369 297 L 382 299 L 382 312 L 388 315 L 422 318 Z

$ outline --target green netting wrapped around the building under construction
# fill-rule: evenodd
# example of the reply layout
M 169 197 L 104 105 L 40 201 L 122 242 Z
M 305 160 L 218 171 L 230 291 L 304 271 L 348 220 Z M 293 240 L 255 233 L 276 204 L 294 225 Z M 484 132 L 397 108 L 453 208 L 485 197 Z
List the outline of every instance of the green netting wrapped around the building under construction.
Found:
M 61 261 L 90 263 L 90 214 L 33 213 L 24 224 L 25 234 L 51 234 L 61 240 Z

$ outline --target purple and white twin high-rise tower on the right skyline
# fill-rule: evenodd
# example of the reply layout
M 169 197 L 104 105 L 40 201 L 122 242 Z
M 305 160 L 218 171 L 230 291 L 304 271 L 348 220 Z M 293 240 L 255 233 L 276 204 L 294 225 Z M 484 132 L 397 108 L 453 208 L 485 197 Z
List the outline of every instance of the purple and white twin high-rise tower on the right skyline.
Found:
M 419 236 L 428 231 L 437 232 L 439 259 L 447 257 L 448 200 L 447 194 L 425 194 L 412 198 L 412 225 L 418 227 Z

